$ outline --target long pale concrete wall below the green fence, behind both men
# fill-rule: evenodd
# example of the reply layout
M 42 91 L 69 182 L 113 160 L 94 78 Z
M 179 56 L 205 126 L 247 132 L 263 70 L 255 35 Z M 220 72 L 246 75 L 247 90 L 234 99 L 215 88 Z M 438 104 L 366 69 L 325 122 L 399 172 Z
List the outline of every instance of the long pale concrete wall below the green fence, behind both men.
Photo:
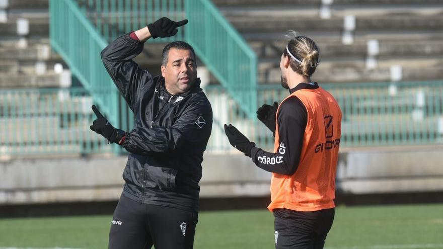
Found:
M 337 192 L 443 191 L 443 146 L 342 151 Z M 20 158 L 0 162 L 0 205 L 112 201 L 121 194 L 126 157 Z M 240 153 L 206 154 L 201 198 L 265 197 L 271 174 Z

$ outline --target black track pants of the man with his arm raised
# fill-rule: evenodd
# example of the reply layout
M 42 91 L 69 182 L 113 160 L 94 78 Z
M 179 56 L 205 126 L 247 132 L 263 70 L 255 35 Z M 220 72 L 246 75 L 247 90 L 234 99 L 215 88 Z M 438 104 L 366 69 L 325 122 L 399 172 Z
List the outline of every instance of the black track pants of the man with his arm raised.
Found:
M 198 214 L 142 204 L 124 195 L 115 208 L 109 232 L 112 249 L 191 249 Z

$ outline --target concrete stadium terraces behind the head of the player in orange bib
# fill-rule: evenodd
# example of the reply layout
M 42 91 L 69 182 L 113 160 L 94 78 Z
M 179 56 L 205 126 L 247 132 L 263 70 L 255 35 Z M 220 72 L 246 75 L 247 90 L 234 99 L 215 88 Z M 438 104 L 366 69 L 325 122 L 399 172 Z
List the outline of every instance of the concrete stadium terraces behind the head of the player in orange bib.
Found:
M 256 51 L 261 84 L 280 81 L 287 30 L 318 43 L 321 66 L 313 79 L 319 82 L 390 81 L 392 65 L 402 67 L 400 80 L 443 78 L 443 2 L 438 0 L 213 2 Z

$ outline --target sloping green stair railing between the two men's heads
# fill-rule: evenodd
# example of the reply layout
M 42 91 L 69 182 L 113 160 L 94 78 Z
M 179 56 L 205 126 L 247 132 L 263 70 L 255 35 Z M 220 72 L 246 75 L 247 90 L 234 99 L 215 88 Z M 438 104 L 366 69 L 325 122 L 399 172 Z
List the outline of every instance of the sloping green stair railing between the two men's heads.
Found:
M 257 109 L 257 57 L 236 29 L 208 0 L 186 0 L 185 38 L 241 110 Z

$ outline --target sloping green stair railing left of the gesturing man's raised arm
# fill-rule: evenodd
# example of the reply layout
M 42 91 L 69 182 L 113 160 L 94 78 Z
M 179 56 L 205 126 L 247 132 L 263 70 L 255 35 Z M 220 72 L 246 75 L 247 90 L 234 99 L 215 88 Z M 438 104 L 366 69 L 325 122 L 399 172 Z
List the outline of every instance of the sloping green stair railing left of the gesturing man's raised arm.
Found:
M 105 41 L 85 18 L 76 2 L 50 0 L 50 38 L 72 74 L 79 78 L 107 119 L 122 129 L 132 129 L 133 115 L 103 66 L 100 52 Z

